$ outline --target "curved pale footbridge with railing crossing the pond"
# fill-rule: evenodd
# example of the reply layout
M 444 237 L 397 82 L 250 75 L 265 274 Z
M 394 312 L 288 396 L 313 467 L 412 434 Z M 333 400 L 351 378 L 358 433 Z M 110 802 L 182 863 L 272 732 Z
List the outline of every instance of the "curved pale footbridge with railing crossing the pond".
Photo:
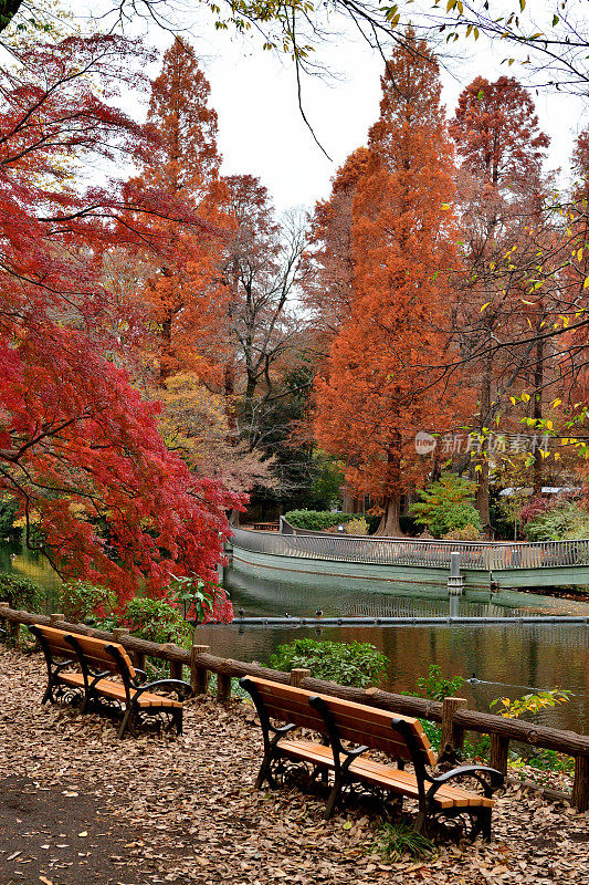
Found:
M 291 527 L 287 528 L 287 530 Z M 235 565 L 276 580 L 347 586 L 387 582 L 463 589 L 589 584 L 589 540 L 466 543 L 349 537 L 296 530 L 292 534 L 235 528 Z

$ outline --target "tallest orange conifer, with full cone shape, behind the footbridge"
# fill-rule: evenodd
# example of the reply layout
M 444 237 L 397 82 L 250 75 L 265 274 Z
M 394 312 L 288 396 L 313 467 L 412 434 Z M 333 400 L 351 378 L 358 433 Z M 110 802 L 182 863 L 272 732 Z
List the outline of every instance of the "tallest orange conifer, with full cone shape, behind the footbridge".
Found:
M 315 430 L 346 461 L 357 493 L 381 503 L 380 534 L 399 534 L 401 494 L 423 465 L 421 428 L 451 429 L 459 400 L 448 329 L 456 273 L 453 153 L 439 69 L 408 34 L 381 79 L 380 117 L 353 206 L 354 302 L 316 384 Z

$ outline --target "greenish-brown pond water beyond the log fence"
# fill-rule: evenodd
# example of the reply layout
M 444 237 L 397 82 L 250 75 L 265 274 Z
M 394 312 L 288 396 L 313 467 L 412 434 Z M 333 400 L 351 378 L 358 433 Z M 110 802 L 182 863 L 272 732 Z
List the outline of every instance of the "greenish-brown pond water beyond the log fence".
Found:
M 0 544 L 0 571 L 25 575 L 48 589 L 48 610 L 53 607 L 60 583 L 51 568 L 19 545 Z M 445 587 L 416 591 L 396 585 L 393 592 L 351 591 L 334 586 L 264 580 L 227 569 L 224 584 L 235 611 L 246 615 L 325 616 L 449 614 Z M 589 735 L 589 627 L 566 624 L 523 625 L 511 623 L 518 614 L 589 615 L 589 603 L 577 603 L 533 593 L 503 591 L 466 593 L 457 601 L 463 615 L 504 615 L 505 624 L 411 625 L 357 627 L 198 627 L 197 642 L 213 654 L 267 664 L 274 649 L 296 637 L 311 636 L 339 642 L 370 642 L 388 658 L 385 686 L 412 690 L 430 664 L 444 676 L 461 675 L 477 681 L 461 690 L 470 705 L 487 710 L 499 696 L 518 697 L 539 688 L 569 689 L 570 701 L 543 714 L 541 721 Z

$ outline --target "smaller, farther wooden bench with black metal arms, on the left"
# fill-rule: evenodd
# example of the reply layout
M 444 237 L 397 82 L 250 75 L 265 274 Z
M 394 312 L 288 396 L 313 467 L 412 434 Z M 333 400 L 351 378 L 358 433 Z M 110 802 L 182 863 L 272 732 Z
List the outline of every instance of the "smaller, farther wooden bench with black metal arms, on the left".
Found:
M 158 721 L 166 730 L 182 733 L 182 699 L 191 694 L 188 683 L 158 679 L 146 683 L 144 670 L 133 666 L 118 643 L 93 636 L 66 633 L 34 624 L 31 633 L 39 639 L 48 667 L 48 686 L 42 702 L 50 700 L 82 705 L 82 712 L 97 711 L 120 718 L 118 737 L 128 729 L 137 735 L 144 721 Z M 176 699 L 158 694 L 168 691 Z

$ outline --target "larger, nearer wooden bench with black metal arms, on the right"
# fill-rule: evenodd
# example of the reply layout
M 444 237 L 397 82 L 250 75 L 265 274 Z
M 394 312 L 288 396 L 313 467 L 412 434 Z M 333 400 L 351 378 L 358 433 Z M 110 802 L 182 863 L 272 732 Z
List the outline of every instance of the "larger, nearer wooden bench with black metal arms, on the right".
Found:
M 403 798 L 416 800 L 414 829 L 419 832 L 438 823 L 446 829 L 460 827 L 472 839 L 478 833 L 491 839 L 492 795 L 503 784 L 503 774 L 483 766 L 431 774 L 428 769 L 435 764 L 435 757 L 418 719 L 265 679 L 243 677 L 240 685 L 252 696 L 263 732 L 257 789 L 264 782 L 275 787 L 290 767 L 303 763 L 311 769 L 312 778 L 318 773 L 324 780 L 333 777 L 326 818 L 341 800 L 343 788 L 359 784 L 381 800 L 392 798 L 399 811 Z M 272 720 L 286 725 L 276 726 Z M 297 727 L 320 735 L 323 742 L 288 738 Z M 367 757 L 368 750 L 385 753 L 398 767 Z M 412 771 L 406 769 L 408 762 Z M 482 788 L 482 794 L 452 783 L 465 778 Z

